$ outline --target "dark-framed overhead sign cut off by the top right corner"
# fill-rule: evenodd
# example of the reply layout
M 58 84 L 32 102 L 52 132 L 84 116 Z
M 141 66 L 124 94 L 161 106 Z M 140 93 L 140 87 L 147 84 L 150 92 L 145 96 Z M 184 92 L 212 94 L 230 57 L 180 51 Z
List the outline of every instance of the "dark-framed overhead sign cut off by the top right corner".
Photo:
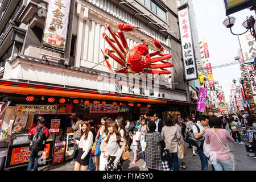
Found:
M 226 16 L 255 5 L 255 0 L 224 0 Z

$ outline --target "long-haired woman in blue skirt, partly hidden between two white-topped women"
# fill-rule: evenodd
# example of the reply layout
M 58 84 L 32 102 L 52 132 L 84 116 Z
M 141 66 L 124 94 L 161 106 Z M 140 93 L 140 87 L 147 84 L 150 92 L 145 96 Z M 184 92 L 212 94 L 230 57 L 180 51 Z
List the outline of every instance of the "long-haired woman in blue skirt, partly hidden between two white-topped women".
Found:
M 100 129 L 98 130 L 98 133 L 97 133 L 96 138 L 95 138 L 95 140 L 97 141 L 97 145 L 96 145 L 96 149 L 95 149 L 95 153 L 94 153 L 96 171 L 99 170 L 99 164 L 100 164 L 100 156 L 101 156 L 101 150 L 100 150 L 100 147 L 101 147 L 101 137 L 102 137 L 102 134 L 103 134 L 103 133 L 106 133 L 106 130 L 108 130 L 107 122 L 106 122 L 107 119 L 108 119 L 107 117 L 101 118 L 101 127 L 100 127 Z

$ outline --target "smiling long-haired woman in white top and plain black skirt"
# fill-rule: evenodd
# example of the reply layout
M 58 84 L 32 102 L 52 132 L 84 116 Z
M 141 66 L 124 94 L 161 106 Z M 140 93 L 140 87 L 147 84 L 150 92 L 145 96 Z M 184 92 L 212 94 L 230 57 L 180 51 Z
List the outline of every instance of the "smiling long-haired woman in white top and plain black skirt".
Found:
M 77 155 L 75 163 L 75 171 L 79 171 L 80 167 L 82 171 L 87 171 L 89 159 L 90 159 L 90 148 L 93 145 L 93 134 L 90 131 L 90 125 L 88 121 L 83 121 L 81 124 L 81 139 L 73 140 L 79 146 L 79 154 Z

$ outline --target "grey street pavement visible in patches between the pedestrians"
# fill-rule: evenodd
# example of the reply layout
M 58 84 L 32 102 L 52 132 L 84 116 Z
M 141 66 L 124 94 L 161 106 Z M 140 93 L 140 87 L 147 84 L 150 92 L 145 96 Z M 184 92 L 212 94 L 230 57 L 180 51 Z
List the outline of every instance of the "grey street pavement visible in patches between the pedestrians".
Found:
M 230 132 L 228 126 L 226 129 Z M 243 141 L 243 143 L 247 144 Z M 230 150 L 232 151 L 235 159 L 235 170 L 236 171 L 255 171 L 256 170 L 256 159 L 253 157 L 246 155 L 245 144 L 235 144 L 228 142 Z M 185 166 L 186 169 L 180 168 L 180 171 L 201 171 L 201 162 L 199 155 L 193 156 L 192 148 L 187 148 L 188 143 L 184 143 L 185 147 Z M 126 160 L 123 163 L 123 171 L 147 171 L 146 168 L 142 168 L 143 166 L 143 158 L 142 152 L 139 151 L 139 159 L 135 164 L 131 164 L 133 162 L 133 152 L 130 152 L 130 159 Z M 197 154 L 197 152 L 196 152 Z M 94 162 L 94 157 L 93 157 Z M 179 164 L 181 164 L 181 159 L 179 159 Z M 95 163 L 94 163 L 95 165 Z M 75 164 L 70 164 L 70 162 L 64 162 L 61 164 L 52 164 L 49 166 L 39 167 L 39 171 L 73 171 Z M 95 167 L 94 167 L 95 168 Z M 208 170 L 211 171 L 212 167 L 208 164 Z

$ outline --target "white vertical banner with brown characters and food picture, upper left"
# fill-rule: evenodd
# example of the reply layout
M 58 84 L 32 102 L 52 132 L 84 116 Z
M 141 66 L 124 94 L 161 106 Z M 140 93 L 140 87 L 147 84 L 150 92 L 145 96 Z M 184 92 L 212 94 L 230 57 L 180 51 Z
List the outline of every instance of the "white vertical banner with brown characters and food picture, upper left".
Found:
M 65 51 L 70 2 L 69 0 L 49 0 L 43 46 Z

